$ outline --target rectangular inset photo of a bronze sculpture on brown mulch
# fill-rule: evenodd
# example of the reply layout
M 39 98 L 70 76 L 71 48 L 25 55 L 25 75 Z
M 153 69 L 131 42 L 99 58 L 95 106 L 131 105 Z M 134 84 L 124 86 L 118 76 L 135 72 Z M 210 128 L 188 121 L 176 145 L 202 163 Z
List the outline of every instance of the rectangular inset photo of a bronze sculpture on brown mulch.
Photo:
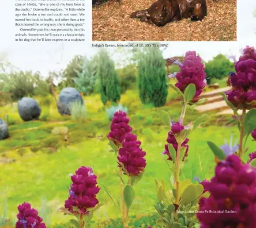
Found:
M 92 0 L 92 41 L 236 41 L 236 0 Z

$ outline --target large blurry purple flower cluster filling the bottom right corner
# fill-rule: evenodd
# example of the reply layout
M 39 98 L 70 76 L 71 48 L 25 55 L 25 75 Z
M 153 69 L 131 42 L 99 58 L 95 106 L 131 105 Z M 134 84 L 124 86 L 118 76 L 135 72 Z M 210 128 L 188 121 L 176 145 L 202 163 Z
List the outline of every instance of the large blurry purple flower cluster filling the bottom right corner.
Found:
M 232 154 L 217 164 L 207 189 L 210 196 L 200 199 L 197 213 L 201 228 L 256 227 L 255 168 Z

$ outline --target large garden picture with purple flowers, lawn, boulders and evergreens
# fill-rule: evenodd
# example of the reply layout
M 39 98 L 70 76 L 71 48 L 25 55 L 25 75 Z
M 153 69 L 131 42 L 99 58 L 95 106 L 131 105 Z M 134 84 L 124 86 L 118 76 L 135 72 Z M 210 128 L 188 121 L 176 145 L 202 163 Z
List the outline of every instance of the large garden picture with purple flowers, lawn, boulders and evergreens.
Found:
M 1 53 L 0 227 L 256 227 L 255 47 L 135 46 Z

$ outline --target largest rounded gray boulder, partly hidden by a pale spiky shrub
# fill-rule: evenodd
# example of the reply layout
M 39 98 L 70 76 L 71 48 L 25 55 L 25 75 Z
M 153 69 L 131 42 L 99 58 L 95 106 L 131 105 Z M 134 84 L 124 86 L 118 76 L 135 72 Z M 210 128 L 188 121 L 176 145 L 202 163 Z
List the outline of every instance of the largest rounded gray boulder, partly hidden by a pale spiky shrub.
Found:
M 76 88 L 68 87 L 63 88 L 59 94 L 59 101 L 57 103 L 59 114 L 61 115 L 71 115 L 70 106 L 73 102 L 81 102 L 84 104 L 84 100 L 80 92 Z

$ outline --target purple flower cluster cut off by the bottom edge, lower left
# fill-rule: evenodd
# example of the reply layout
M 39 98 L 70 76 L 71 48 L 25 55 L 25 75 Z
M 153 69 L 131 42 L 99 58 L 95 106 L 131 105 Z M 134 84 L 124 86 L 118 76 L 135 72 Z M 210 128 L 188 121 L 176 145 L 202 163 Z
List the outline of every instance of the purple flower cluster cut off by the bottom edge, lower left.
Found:
M 38 216 L 38 211 L 31 208 L 29 203 L 24 202 L 18 206 L 17 218 L 16 228 L 46 228 L 42 223 L 43 219 Z

